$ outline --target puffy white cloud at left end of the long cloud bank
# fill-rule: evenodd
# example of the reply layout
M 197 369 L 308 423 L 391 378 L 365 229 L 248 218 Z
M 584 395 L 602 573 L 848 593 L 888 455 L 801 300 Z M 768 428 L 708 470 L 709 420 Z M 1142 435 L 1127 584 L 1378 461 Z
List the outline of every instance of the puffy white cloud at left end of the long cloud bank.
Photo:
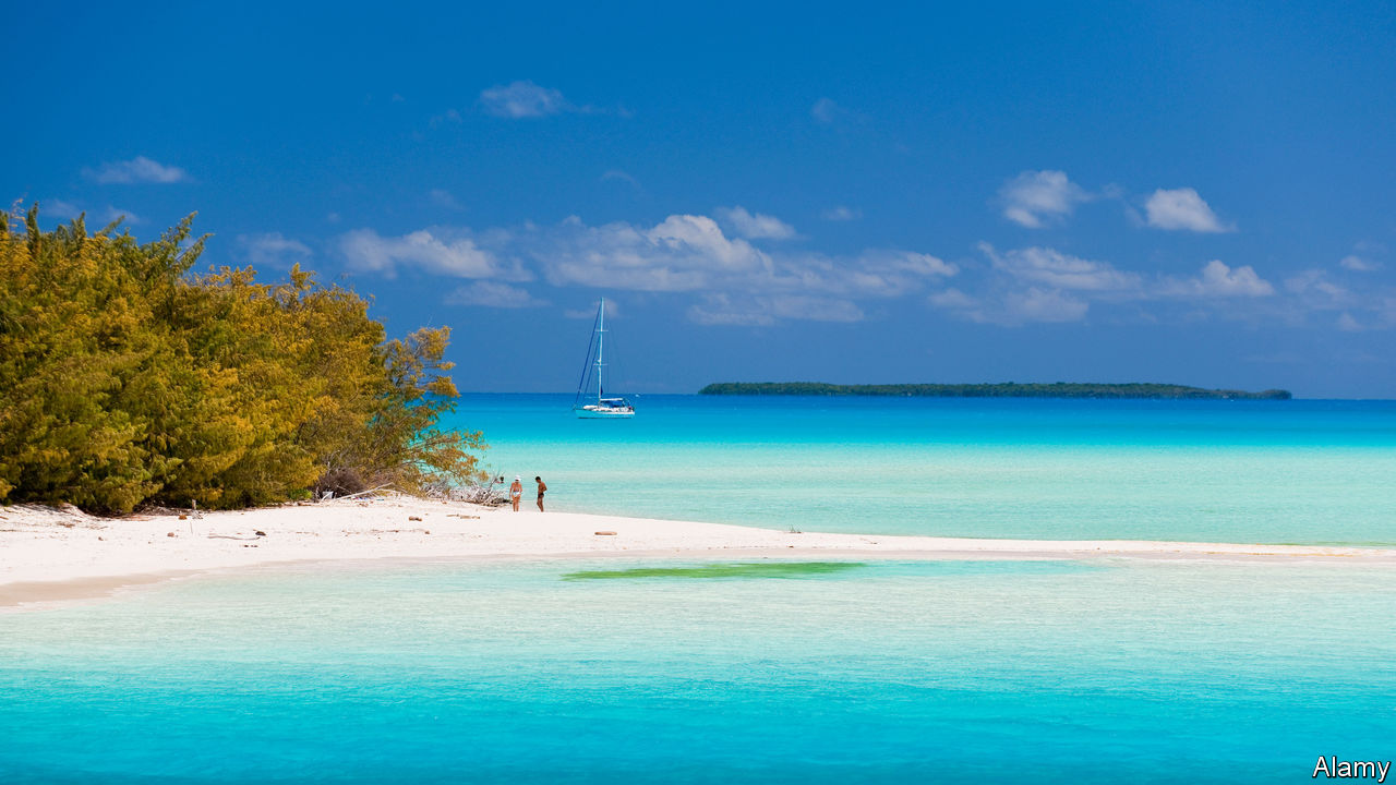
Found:
M 357 272 L 392 277 L 401 265 L 456 278 L 521 279 L 518 272 L 503 268 L 470 237 L 443 240 L 427 229 L 401 237 L 384 237 L 373 229 L 355 229 L 339 237 L 339 251 L 350 270 Z

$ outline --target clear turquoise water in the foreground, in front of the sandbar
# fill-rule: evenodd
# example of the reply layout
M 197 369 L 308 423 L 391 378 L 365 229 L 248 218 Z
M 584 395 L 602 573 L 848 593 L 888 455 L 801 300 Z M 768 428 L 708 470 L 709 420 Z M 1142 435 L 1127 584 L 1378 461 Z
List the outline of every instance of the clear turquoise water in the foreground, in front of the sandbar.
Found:
M 0 779 L 1258 782 L 1396 738 L 1389 570 L 730 564 L 278 567 L 3 615 Z

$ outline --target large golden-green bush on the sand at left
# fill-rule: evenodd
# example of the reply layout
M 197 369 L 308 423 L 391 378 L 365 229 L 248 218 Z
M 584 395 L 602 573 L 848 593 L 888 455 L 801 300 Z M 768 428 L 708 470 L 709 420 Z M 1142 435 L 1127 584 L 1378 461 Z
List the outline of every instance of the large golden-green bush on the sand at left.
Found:
M 369 303 L 292 268 L 188 271 L 193 215 L 138 244 L 0 217 L 0 503 L 230 508 L 473 478 L 448 328 L 385 339 Z

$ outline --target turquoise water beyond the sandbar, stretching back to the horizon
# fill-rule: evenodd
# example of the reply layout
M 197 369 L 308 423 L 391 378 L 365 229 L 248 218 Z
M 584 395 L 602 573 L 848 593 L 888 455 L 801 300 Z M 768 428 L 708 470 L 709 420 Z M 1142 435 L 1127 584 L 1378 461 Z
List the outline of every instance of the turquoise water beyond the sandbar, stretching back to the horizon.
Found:
M 1020 539 L 1396 545 L 1396 402 L 469 395 L 557 510 Z

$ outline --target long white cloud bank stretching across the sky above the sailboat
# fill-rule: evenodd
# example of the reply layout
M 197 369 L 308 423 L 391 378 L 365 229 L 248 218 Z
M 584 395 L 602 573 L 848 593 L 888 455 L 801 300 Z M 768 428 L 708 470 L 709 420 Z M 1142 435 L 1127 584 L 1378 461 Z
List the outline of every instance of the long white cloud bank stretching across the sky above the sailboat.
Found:
M 750 235 L 793 232 L 783 222 L 772 223 L 769 217 L 740 208 L 725 215 Z M 923 292 L 959 274 L 956 265 L 940 257 L 900 249 L 868 249 L 856 256 L 766 251 L 736 232 L 725 232 L 711 217 L 685 214 L 655 225 L 617 221 L 592 226 L 572 217 L 556 225 L 482 232 L 430 228 L 381 236 L 357 229 L 342 235 L 336 249 L 349 270 L 389 277 L 415 268 L 436 275 L 528 281 L 536 271 L 553 286 L 687 293 L 697 298 L 688 317 L 699 324 L 854 321 L 864 317 L 861 299 Z M 456 302 L 475 296 L 530 302 L 486 286 L 468 286 L 454 296 Z

